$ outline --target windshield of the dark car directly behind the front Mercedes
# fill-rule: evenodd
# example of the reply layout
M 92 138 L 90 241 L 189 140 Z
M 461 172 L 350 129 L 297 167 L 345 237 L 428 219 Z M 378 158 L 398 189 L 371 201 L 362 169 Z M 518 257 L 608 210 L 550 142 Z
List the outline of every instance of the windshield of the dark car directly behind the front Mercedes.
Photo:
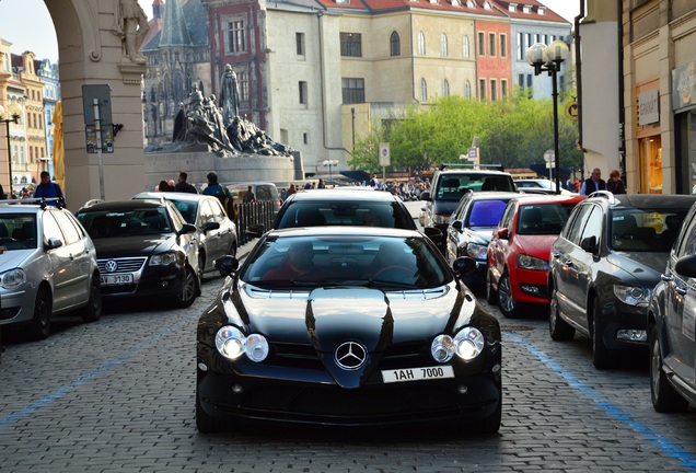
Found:
M 327 224 L 413 229 L 413 219 L 390 201 L 294 201 L 285 210 L 277 228 Z

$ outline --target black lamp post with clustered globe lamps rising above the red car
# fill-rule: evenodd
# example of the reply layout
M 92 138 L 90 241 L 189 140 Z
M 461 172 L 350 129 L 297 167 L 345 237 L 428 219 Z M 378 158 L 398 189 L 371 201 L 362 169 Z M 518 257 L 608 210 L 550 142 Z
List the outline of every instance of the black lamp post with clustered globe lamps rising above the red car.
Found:
M 554 153 L 556 159 L 556 194 L 560 194 L 560 153 L 558 152 L 558 71 L 560 64 L 568 57 L 568 45 L 557 39 L 546 46 L 536 43 L 526 50 L 524 58 L 534 67 L 534 76 L 548 71 L 552 77 L 554 96 Z

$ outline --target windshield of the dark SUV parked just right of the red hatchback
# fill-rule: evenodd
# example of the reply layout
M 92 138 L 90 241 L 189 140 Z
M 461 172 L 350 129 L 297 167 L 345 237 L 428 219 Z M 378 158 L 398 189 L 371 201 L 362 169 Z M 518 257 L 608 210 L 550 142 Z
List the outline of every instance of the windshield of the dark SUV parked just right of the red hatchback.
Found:
M 669 252 L 685 216 L 683 209 L 612 210 L 611 246 L 626 252 Z

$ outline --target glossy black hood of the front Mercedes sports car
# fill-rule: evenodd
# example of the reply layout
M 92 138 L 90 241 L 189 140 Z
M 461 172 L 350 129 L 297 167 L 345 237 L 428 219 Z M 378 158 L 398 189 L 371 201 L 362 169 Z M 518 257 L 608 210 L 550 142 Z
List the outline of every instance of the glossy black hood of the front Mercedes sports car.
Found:
M 455 333 L 468 324 L 478 326 L 489 341 L 499 339 L 500 333 L 495 318 L 455 282 L 403 292 L 363 287 L 262 291 L 242 282 L 222 305 L 227 323 L 242 326 L 248 334 L 264 334 L 276 345 L 312 346 L 332 378 L 349 389 L 358 388 L 379 369 L 390 348 L 401 346 L 404 350 L 399 353 L 418 354 L 419 359 L 427 356 L 437 335 Z M 204 315 L 214 316 L 214 311 Z M 220 327 L 213 319 L 202 325 L 211 335 Z M 364 366 L 350 371 L 338 367 L 335 351 L 346 342 L 367 348 L 370 356 Z

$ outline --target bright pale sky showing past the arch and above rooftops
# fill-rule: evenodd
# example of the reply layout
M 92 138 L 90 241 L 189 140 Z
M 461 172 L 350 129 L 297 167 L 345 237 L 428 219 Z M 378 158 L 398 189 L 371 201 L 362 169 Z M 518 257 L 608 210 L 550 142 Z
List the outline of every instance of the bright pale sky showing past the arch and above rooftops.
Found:
M 152 18 L 152 0 L 138 0 L 148 18 Z M 543 4 L 575 22 L 580 13 L 580 0 L 541 0 Z M 19 19 L 31 14 L 32 25 Z M 37 32 L 42 32 L 37 34 Z M 12 43 L 12 54 L 31 50 L 36 59 L 58 61 L 56 28 L 44 0 L 0 0 L 0 37 Z

